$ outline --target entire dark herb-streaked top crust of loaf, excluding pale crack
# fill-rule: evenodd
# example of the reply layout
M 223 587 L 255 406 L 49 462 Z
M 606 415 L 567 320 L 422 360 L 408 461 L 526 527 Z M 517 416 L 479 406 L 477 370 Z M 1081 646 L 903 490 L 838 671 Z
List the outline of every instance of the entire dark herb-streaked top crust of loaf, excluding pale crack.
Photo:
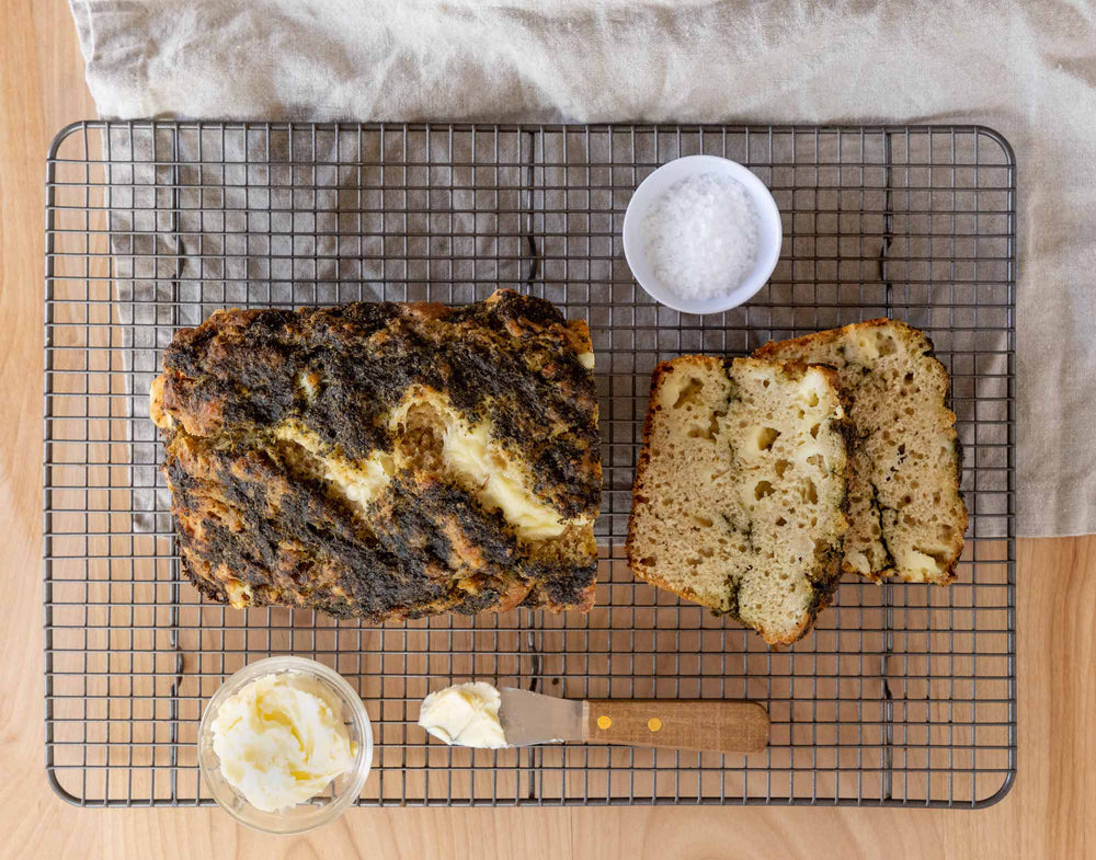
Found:
M 407 387 L 430 386 L 470 421 L 490 417 L 564 518 L 596 515 L 596 398 L 576 357 L 583 346 L 584 331 L 551 305 L 509 290 L 456 310 L 233 310 L 180 331 L 164 355 L 161 405 L 174 422 L 163 471 L 183 573 L 219 603 L 235 581 L 248 605 L 370 622 L 520 604 L 589 608 L 596 558 L 546 560 L 466 490 L 411 472 L 362 517 L 298 472 L 273 434 L 293 418 L 345 458 L 391 450 L 380 416 Z M 318 380 L 315 398 L 301 374 Z

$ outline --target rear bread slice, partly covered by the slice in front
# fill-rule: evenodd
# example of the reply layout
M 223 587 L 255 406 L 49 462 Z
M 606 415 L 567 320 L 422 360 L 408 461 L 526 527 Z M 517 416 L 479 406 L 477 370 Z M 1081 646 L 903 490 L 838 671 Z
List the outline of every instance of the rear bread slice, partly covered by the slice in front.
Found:
M 754 355 L 841 375 L 856 429 L 843 569 L 945 585 L 967 530 L 947 370 L 923 332 L 871 320 L 769 343 Z

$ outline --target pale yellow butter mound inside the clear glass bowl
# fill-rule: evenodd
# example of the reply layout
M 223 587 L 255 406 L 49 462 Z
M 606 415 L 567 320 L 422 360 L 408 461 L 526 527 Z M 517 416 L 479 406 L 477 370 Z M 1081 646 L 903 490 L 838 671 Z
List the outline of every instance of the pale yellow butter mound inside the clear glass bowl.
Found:
M 321 793 L 357 753 L 338 697 L 297 672 L 265 675 L 229 697 L 213 723 L 213 749 L 225 779 L 264 812 Z

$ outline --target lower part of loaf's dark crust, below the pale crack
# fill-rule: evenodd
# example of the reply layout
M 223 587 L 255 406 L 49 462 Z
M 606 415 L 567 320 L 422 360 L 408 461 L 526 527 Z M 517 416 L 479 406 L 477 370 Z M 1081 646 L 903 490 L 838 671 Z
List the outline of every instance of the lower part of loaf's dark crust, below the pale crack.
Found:
M 595 561 L 566 571 L 537 564 L 500 516 L 458 488 L 396 480 L 374 527 L 363 528 L 265 451 L 208 449 L 198 459 L 169 449 L 167 472 L 183 573 L 218 603 L 228 601 L 220 565 L 249 586 L 250 605 L 370 621 L 587 601 Z M 529 600 L 534 593 L 543 599 Z

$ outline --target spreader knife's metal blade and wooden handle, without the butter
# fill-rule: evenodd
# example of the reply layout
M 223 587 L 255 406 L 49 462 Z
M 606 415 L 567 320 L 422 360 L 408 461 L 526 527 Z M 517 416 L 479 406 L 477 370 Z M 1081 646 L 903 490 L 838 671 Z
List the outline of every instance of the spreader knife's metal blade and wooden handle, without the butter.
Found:
M 768 711 L 719 699 L 576 701 L 503 687 L 499 719 L 512 746 L 578 742 L 712 753 L 757 753 L 768 743 Z

